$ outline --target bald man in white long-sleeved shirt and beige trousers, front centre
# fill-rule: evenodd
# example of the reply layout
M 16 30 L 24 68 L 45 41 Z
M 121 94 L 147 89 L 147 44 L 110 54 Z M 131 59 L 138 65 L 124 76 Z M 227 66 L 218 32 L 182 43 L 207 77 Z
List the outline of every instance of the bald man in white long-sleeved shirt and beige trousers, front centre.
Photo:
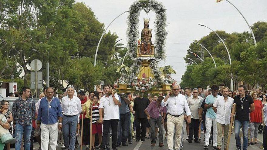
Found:
M 191 112 L 184 95 L 180 94 L 180 85 L 173 85 L 172 92 L 161 102 L 161 106 L 167 106 L 167 130 L 168 130 L 168 150 L 173 149 L 173 130 L 175 128 L 175 149 L 181 149 L 181 134 L 184 119 L 191 123 Z M 184 115 L 184 110 L 186 115 Z

